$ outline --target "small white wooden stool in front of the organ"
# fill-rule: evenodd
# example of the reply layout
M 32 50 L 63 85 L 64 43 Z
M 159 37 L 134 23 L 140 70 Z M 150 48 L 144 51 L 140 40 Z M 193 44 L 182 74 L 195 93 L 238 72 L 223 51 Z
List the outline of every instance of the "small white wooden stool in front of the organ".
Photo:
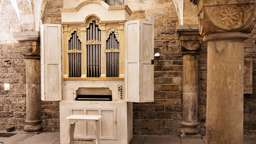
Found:
M 70 115 L 66 117 L 68 119 L 68 141 L 71 144 L 72 140 L 74 140 L 74 130 L 76 122 L 89 122 L 90 124 L 94 124 L 94 131 L 96 137 L 96 144 L 100 143 L 100 118 L 102 116 L 98 115 Z

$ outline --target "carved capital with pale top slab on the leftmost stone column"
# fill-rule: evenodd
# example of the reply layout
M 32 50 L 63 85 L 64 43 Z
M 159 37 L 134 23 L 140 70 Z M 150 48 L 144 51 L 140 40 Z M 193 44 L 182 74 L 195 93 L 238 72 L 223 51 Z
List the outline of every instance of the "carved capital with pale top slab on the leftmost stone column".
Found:
M 40 57 L 40 32 L 39 31 L 21 31 L 14 32 L 13 38 L 19 41 L 20 52 L 22 55 L 31 57 Z

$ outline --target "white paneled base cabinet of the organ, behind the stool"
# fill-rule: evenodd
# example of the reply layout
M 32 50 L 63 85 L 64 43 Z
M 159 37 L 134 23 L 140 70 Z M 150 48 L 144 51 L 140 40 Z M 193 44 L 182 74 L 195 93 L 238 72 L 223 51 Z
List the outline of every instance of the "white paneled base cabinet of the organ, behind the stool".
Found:
M 103 144 L 129 144 L 132 140 L 132 102 L 60 101 L 60 143 L 67 144 L 70 115 L 101 115 L 100 140 Z M 95 139 L 93 125 L 76 122 L 75 140 Z

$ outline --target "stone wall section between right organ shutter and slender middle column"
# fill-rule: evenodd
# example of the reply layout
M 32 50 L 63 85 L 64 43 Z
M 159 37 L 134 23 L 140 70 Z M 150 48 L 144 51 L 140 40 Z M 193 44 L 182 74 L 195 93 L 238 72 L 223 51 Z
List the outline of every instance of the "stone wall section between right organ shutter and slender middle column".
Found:
M 148 4 L 148 5 L 147 5 Z M 129 1 L 131 19 L 155 16 L 154 102 L 133 103 L 133 133 L 179 135 L 182 120 L 182 55 L 172 0 Z

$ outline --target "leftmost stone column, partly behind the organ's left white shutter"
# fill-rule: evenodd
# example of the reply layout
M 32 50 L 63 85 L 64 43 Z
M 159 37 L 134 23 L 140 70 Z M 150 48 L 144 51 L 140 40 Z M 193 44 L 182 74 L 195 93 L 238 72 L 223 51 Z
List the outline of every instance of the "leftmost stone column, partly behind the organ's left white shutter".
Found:
M 41 126 L 41 73 L 40 32 L 14 32 L 20 52 L 26 60 L 26 125 L 25 132 L 40 132 Z

